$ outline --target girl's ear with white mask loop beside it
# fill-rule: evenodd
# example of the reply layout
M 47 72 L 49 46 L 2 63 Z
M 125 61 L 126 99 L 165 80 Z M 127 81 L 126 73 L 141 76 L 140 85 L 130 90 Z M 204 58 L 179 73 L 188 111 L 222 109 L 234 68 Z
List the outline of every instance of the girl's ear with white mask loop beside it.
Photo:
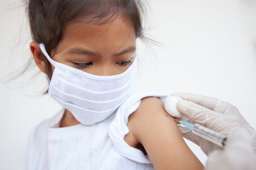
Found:
M 38 66 L 38 68 L 41 70 L 41 72 L 45 72 L 45 56 L 44 54 L 42 53 L 40 47 L 39 47 L 39 44 L 36 43 L 36 42 L 31 42 L 30 44 L 30 50 L 31 50 L 31 53 L 34 57 L 34 60 L 35 60 L 35 64 Z

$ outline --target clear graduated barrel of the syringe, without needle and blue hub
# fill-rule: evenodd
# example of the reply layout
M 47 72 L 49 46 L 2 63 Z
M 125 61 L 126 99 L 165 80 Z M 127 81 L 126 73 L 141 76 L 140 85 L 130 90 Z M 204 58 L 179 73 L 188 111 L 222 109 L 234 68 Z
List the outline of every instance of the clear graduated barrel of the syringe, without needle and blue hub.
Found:
M 198 136 L 201 136 L 202 138 L 209 140 L 212 143 L 217 144 L 218 146 L 224 147 L 226 143 L 227 137 L 215 132 L 213 130 L 210 130 L 200 124 L 194 124 L 192 126 L 192 132 Z

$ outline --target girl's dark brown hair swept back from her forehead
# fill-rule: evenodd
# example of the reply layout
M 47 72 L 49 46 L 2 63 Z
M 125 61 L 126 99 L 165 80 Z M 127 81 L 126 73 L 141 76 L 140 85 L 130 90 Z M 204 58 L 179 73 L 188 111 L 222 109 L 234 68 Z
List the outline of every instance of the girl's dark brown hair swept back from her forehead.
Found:
M 44 43 L 51 56 L 57 50 L 64 28 L 74 22 L 101 25 L 121 15 L 134 28 L 136 37 L 144 38 L 145 9 L 141 0 L 29 0 L 27 11 L 33 40 Z M 51 79 L 47 59 L 45 70 Z

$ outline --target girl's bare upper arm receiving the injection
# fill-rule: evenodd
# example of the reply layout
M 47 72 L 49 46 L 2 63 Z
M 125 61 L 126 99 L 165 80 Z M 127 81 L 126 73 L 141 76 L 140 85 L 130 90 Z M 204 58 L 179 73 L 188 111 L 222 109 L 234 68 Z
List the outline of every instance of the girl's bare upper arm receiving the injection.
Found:
M 175 120 L 166 115 L 161 100 L 143 98 L 139 108 L 129 116 L 128 135 L 143 145 L 155 169 L 203 169 L 182 138 Z

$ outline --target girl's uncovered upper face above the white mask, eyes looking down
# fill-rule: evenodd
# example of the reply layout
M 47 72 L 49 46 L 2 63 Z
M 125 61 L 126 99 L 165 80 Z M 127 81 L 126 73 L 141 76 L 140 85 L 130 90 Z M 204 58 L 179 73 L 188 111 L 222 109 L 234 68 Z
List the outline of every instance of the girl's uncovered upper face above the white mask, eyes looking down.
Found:
M 70 24 L 52 59 L 90 74 L 112 76 L 127 70 L 135 50 L 133 27 L 118 17 L 103 25 Z

